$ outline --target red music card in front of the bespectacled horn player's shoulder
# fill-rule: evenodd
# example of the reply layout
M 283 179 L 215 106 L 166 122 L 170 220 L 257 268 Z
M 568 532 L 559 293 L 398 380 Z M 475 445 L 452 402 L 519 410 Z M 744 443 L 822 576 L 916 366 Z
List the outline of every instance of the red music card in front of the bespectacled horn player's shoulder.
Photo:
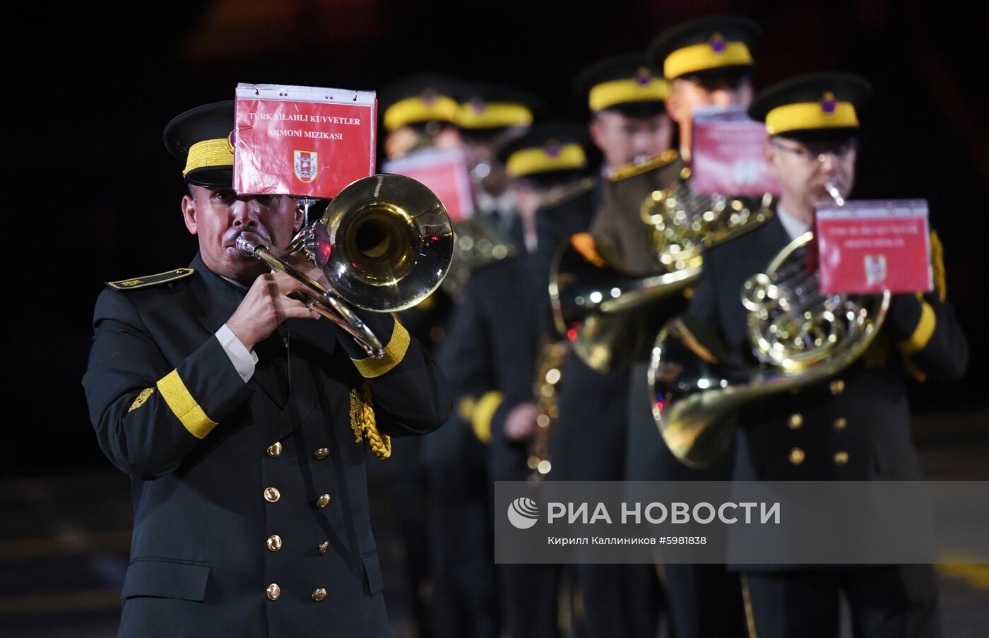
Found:
M 821 208 L 816 234 L 824 293 L 915 293 L 934 287 L 924 200 Z

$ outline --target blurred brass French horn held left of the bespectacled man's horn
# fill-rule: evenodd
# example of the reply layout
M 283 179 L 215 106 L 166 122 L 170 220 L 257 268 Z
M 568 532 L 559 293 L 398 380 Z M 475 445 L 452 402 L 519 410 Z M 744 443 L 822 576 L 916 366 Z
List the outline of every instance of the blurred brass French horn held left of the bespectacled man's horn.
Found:
M 771 217 L 769 194 L 761 200 L 698 195 L 688 177 L 689 169 L 683 169 L 674 188 L 654 190 L 639 205 L 639 217 L 649 225 L 643 231 L 650 233 L 656 254 L 650 274 L 628 272 L 617 258 L 588 243 L 589 236 L 576 236 L 557 253 L 550 275 L 557 329 L 595 370 L 613 370 L 634 358 L 645 327 L 641 311 L 655 311 L 655 302 L 692 285 L 700 276 L 703 249 Z M 683 309 L 683 304 L 672 305 L 665 315 Z

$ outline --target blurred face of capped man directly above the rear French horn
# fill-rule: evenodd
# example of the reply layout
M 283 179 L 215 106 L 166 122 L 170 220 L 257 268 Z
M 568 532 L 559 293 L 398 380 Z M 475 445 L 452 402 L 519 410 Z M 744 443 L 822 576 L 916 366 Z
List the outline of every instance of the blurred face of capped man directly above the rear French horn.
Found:
M 590 123 L 590 136 L 608 166 L 621 166 L 655 157 L 670 147 L 673 125 L 664 113 L 631 118 L 614 111 L 598 111 Z

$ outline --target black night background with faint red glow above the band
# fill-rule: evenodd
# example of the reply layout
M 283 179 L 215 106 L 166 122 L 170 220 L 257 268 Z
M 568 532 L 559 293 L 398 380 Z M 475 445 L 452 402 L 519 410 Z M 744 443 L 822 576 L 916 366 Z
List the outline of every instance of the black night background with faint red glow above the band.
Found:
M 584 101 L 570 92 L 580 68 L 712 13 L 764 26 L 755 49 L 760 88 L 829 69 L 873 82 L 854 195 L 930 201 L 948 297 L 972 352 L 961 383 L 916 386 L 912 401 L 922 414 L 982 412 L 986 6 L 685 4 L 217 0 L 147 4 L 140 16 L 134 5 L 71 13 L 39 6 L 32 20 L 8 25 L 24 44 L 9 41 L 5 54 L 14 73 L 6 77 L 4 130 L 17 149 L 8 155 L 6 213 L 14 228 L 25 225 L 28 241 L 17 242 L 27 274 L 14 264 L 8 270 L 16 273 L 7 304 L 14 357 L 5 385 L 16 409 L 7 423 L 13 436 L 0 446 L 2 471 L 109 467 L 80 385 L 93 303 L 102 282 L 184 266 L 196 250 L 179 212 L 181 166 L 161 142 L 174 115 L 232 97 L 237 82 L 380 89 L 405 73 L 441 71 L 515 84 L 542 96 L 550 115 L 585 119 Z

